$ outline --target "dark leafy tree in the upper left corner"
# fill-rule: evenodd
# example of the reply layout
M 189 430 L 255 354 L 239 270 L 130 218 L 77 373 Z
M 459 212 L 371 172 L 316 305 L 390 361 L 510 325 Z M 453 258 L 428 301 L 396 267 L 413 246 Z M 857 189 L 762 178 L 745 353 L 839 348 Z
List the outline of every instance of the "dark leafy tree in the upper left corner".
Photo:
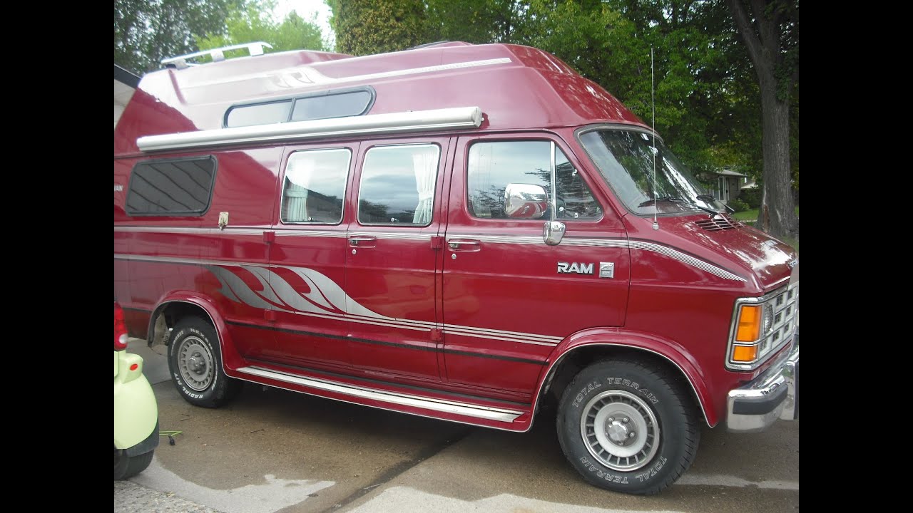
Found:
M 142 75 L 163 58 L 197 51 L 196 37 L 225 34 L 246 0 L 114 0 L 114 64 Z

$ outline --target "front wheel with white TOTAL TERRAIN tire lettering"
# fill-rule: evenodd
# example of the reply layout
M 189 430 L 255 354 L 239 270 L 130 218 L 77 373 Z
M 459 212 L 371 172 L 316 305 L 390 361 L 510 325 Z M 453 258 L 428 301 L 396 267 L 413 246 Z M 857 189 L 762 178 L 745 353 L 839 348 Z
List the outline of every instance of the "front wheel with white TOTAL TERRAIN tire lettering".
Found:
M 574 377 L 558 408 L 561 450 L 596 487 L 654 495 L 684 474 L 698 451 L 699 417 L 687 390 L 644 361 L 593 363 Z

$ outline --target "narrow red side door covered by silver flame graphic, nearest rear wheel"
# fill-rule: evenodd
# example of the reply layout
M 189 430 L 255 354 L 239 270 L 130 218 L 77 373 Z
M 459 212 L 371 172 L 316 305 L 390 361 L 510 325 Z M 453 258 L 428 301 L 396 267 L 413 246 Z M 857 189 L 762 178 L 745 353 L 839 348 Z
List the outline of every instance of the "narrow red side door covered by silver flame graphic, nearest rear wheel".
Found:
M 289 146 L 279 176 L 267 298 L 276 343 L 269 361 L 351 367 L 346 347 L 346 194 L 358 144 Z

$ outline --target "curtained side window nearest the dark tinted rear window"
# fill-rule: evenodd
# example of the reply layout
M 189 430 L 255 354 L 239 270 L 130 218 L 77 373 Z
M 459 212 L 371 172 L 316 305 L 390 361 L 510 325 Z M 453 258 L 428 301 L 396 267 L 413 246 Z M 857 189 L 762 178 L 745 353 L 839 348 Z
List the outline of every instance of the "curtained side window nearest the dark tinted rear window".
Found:
M 282 187 L 282 222 L 339 224 L 351 160 L 348 148 L 292 153 Z

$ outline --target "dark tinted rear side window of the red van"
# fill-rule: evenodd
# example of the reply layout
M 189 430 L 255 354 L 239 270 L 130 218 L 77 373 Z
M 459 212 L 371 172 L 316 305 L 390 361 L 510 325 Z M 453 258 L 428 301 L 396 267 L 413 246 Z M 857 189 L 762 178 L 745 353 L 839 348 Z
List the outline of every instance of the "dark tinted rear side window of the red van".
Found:
M 215 181 L 215 158 L 139 162 L 127 191 L 129 215 L 203 215 Z

